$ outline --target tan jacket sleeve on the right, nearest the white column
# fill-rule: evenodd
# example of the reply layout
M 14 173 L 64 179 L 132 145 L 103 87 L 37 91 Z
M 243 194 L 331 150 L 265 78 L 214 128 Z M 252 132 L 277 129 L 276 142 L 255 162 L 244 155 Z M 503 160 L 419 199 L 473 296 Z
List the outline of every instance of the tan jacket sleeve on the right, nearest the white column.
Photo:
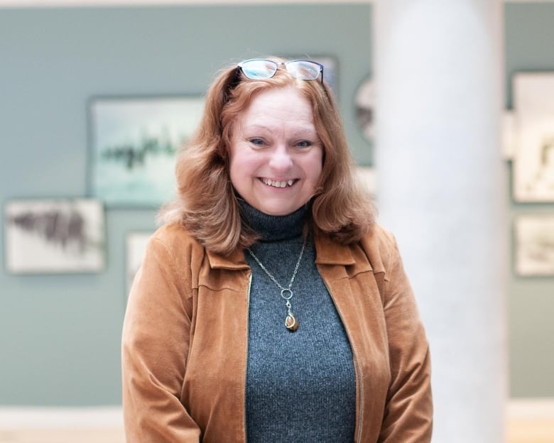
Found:
M 387 236 L 383 302 L 391 384 L 379 442 L 428 443 L 433 427 L 429 345 L 398 246 Z

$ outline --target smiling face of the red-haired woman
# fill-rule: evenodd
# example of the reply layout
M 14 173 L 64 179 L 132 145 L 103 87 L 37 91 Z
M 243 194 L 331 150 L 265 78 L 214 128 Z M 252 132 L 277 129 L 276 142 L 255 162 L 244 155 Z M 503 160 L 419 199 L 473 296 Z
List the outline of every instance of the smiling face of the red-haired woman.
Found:
M 323 163 L 308 99 L 293 87 L 261 92 L 234 123 L 229 154 L 246 202 L 269 215 L 295 212 L 314 195 Z

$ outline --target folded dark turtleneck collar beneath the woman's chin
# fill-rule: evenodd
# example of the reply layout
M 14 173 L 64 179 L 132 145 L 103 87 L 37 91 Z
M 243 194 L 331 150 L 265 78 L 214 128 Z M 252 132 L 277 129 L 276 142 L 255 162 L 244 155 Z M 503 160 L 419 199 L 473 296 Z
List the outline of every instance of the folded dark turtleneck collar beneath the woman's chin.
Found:
M 310 214 L 310 204 L 304 204 L 292 214 L 268 215 L 252 207 L 237 195 L 241 217 L 257 234 L 261 241 L 291 239 L 303 233 L 304 225 Z

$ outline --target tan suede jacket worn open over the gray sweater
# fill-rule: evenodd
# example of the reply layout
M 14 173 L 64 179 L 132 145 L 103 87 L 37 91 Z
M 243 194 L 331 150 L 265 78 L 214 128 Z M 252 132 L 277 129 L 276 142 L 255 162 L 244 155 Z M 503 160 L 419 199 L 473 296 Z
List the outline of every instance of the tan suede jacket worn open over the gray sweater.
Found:
M 354 442 L 430 442 L 428 341 L 393 236 L 359 244 L 315 235 L 316 265 L 346 328 L 357 376 Z M 128 443 L 245 443 L 251 272 L 244 251 L 206 251 L 158 229 L 123 328 Z

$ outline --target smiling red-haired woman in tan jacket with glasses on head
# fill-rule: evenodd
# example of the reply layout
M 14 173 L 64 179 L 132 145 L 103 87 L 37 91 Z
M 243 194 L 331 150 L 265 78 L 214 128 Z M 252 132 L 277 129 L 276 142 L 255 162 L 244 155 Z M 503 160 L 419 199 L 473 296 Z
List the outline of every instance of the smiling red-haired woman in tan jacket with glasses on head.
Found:
M 210 87 L 129 297 L 128 442 L 430 441 L 425 332 L 322 70 Z

